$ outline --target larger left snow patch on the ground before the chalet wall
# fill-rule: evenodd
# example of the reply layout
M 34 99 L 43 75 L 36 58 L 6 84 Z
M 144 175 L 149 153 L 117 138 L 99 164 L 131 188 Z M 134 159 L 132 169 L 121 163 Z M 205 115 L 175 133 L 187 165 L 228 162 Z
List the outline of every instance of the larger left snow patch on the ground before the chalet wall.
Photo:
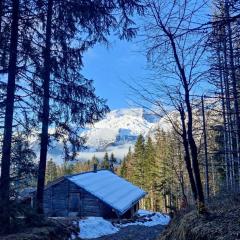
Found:
M 80 234 L 82 239 L 98 238 L 101 236 L 113 234 L 119 231 L 111 222 L 101 217 L 88 217 L 79 222 Z

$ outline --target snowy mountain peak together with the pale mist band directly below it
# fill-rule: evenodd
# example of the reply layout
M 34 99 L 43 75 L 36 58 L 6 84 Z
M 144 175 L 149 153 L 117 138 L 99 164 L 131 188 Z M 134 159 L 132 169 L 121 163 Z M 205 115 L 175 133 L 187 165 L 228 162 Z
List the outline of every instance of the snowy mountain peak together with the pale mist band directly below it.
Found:
M 93 155 L 102 158 L 105 152 L 113 152 L 123 158 L 129 147 L 133 147 L 137 137 L 146 137 L 156 128 L 159 118 L 142 108 L 118 109 L 109 112 L 104 119 L 87 126 L 82 136 L 86 138 L 87 149 L 79 152 L 80 159 L 90 159 Z

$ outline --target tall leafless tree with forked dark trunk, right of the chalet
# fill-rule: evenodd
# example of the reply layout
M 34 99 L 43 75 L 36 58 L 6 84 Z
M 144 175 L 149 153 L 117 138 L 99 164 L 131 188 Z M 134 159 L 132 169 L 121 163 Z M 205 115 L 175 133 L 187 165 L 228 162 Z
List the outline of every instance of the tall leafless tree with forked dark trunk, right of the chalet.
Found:
M 181 116 L 180 128 L 173 119 L 170 122 L 182 137 L 193 196 L 199 212 L 203 213 L 206 209 L 194 132 L 193 95 L 206 71 L 203 64 L 206 58 L 205 34 L 192 29 L 200 19 L 198 14 L 205 3 L 151 0 L 146 4 L 144 43 L 148 59 L 157 74 L 147 86 L 138 86 L 135 90 L 138 89 L 144 100 L 158 109 L 167 112 L 166 106 L 172 106 Z

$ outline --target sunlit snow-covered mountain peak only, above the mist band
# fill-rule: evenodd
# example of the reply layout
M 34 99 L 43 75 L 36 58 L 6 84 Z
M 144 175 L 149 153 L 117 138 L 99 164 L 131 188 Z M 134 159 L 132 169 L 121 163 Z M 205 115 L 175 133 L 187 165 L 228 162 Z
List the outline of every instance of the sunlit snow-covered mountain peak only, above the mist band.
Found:
M 82 135 L 86 145 L 102 151 L 110 145 L 135 142 L 142 134 L 147 136 L 156 122 L 141 108 L 113 110 L 106 117 L 89 127 Z

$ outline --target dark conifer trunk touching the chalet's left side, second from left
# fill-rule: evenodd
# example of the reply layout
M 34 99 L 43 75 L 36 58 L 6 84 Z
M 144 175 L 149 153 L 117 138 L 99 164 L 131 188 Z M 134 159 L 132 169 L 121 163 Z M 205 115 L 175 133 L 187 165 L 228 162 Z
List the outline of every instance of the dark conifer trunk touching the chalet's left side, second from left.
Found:
M 43 213 L 43 194 L 45 183 L 45 172 L 48 149 L 48 126 L 49 126 L 49 85 L 51 73 L 51 36 L 52 36 L 52 14 L 53 0 L 48 0 L 47 6 L 47 25 L 46 25 L 46 42 L 43 50 L 44 58 L 44 75 L 43 75 L 43 109 L 42 109 L 42 133 L 40 145 L 40 161 L 38 167 L 37 183 L 37 211 Z

